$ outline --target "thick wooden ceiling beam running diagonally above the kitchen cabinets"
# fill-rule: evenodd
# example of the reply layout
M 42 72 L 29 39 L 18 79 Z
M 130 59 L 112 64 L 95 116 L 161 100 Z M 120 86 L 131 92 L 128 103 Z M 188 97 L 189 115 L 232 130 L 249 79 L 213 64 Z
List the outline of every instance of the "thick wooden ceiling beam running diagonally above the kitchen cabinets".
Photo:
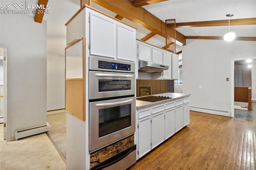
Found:
M 142 7 L 133 6 L 128 0 L 92 0 L 96 4 L 134 22 L 162 37 L 165 34 L 165 22 L 152 15 Z M 174 42 L 175 30 L 167 28 L 167 39 Z M 176 31 L 176 43 L 178 45 L 186 45 L 186 39 L 183 34 Z

